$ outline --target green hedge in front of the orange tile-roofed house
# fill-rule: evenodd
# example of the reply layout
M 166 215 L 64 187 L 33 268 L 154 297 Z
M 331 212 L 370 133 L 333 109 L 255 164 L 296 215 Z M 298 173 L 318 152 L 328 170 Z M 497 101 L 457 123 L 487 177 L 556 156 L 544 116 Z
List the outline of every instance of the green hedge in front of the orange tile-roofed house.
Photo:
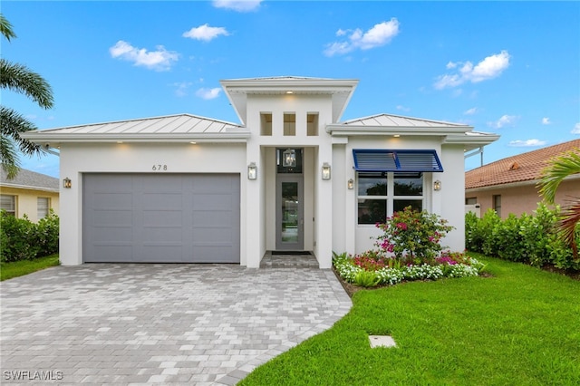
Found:
M 580 270 L 572 248 L 558 238 L 555 231 L 559 208 L 549 209 L 539 203 L 533 215 L 516 217 L 510 214 L 502 220 L 493 209 L 478 218 L 469 212 L 465 216 L 465 244 L 472 252 L 497 256 L 506 260 L 562 269 Z M 580 250 L 580 228 L 576 229 Z

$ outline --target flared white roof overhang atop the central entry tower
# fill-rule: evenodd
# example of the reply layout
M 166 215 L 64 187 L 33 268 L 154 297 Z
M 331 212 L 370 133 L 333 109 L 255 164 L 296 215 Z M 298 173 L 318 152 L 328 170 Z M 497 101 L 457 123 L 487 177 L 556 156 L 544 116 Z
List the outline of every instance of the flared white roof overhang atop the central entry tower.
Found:
M 274 77 L 220 81 L 242 124 L 247 122 L 248 95 L 329 95 L 333 122 L 340 121 L 358 84 L 355 79 Z

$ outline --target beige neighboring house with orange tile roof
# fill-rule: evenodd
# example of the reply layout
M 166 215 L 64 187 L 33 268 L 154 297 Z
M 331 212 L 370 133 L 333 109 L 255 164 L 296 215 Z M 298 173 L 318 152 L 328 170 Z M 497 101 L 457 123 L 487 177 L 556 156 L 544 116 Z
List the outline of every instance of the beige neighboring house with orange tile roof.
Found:
M 479 205 L 481 216 L 492 208 L 502 218 L 510 213 L 531 214 L 542 200 L 537 183 L 546 161 L 565 151 L 580 151 L 580 140 L 570 140 L 547 148 L 499 159 L 465 173 L 465 204 Z M 565 206 L 570 198 L 580 196 L 580 174 L 562 181 L 556 204 Z

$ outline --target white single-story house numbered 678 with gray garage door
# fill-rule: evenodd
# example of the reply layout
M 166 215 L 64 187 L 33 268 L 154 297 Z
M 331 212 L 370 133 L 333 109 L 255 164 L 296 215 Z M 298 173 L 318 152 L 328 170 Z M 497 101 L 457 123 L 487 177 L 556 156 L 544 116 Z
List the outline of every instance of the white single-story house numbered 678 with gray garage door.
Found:
M 462 251 L 464 151 L 497 140 L 459 123 L 379 114 L 340 121 L 356 80 L 222 81 L 241 124 L 190 114 L 29 131 L 61 154 L 63 265 L 236 263 L 267 251 L 373 246 L 411 205 L 449 220 Z M 437 190 L 433 187 L 437 186 Z

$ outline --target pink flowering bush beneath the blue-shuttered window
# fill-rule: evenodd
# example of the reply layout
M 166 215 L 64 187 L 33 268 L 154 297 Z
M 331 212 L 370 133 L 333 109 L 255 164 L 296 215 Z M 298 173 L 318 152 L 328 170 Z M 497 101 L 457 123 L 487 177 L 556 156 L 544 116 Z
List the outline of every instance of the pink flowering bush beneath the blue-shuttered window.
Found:
M 426 210 L 415 211 L 412 207 L 394 213 L 376 227 L 383 233 L 375 245 L 385 255 L 392 254 L 396 259 L 411 264 L 433 263 L 443 249 L 441 238 L 453 229 L 438 215 Z

